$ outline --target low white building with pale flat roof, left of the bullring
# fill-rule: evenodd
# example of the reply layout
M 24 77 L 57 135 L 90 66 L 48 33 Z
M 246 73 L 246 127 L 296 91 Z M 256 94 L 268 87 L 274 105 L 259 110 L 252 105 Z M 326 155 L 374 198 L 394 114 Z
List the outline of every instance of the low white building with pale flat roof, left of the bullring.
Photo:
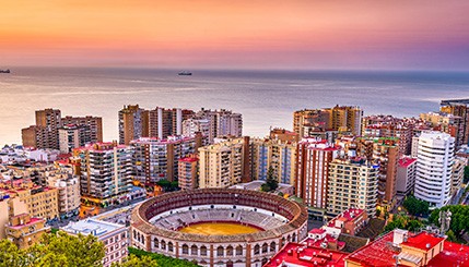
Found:
M 96 220 L 85 219 L 70 222 L 61 228 L 69 234 L 93 234 L 98 241 L 104 243 L 105 256 L 104 267 L 109 267 L 113 263 L 120 263 L 128 255 L 129 229 L 126 226 Z

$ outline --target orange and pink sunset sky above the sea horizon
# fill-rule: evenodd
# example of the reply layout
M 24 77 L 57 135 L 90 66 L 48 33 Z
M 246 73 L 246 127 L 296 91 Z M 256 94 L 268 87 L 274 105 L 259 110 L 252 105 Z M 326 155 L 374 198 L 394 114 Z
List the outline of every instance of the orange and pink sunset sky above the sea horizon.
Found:
M 0 0 L 0 69 L 468 71 L 468 0 Z

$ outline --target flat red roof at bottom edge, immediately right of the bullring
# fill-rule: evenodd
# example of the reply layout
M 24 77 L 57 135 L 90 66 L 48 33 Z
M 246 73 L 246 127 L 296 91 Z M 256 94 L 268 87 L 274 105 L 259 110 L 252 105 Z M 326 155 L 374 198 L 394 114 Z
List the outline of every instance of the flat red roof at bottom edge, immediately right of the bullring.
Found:
M 278 267 L 282 263 L 295 264 L 304 267 L 336 266 L 343 267 L 348 254 L 319 247 L 310 247 L 298 243 L 288 243 L 263 267 Z

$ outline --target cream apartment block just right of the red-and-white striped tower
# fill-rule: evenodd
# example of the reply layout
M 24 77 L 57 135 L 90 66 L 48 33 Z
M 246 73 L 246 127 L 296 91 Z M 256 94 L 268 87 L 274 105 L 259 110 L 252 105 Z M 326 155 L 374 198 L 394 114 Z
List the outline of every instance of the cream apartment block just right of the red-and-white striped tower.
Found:
M 337 158 L 329 163 L 327 211 L 339 215 L 354 207 L 374 216 L 377 206 L 379 166 L 365 158 Z

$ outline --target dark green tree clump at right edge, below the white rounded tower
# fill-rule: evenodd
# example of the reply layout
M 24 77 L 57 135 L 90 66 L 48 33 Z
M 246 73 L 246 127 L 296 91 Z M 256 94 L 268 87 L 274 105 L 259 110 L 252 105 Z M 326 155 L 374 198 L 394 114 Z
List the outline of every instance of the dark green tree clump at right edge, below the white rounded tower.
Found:
M 439 226 L 439 210 L 452 211 L 452 221 L 449 223 L 449 231 L 460 239 L 465 232 L 469 231 L 469 206 L 465 205 L 450 205 L 441 209 L 435 209 L 430 215 L 430 222 Z M 446 233 L 449 236 L 449 231 Z

